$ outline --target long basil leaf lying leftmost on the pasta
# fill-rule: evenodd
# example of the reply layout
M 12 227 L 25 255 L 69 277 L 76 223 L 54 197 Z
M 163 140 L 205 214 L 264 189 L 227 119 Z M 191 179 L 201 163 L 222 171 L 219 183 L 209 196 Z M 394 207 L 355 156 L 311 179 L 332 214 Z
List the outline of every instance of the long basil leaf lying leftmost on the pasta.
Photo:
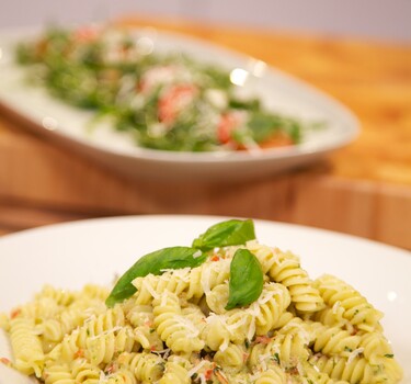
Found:
M 198 249 L 194 248 L 171 247 L 144 256 L 119 278 L 117 284 L 106 298 L 105 304 L 112 307 L 114 304 L 123 302 L 137 292 L 136 287 L 132 284 L 136 278 L 142 278 L 149 273 L 161 274 L 165 269 L 201 266 L 206 260 L 206 255 L 196 257 L 198 252 Z

